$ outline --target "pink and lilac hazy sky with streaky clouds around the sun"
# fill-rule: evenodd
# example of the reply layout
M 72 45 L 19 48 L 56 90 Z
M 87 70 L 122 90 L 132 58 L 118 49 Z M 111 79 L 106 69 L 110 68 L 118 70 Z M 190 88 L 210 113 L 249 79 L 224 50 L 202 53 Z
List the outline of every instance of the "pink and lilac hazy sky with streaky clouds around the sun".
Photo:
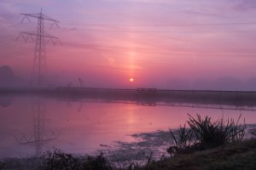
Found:
M 47 86 L 256 90 L 256 1 L 0 0 L 0 66 L 23 84 L 35 42 L 17 37 L 38 20 L 20 13 L 41 8 L 60 21 L 44 21 L 61 40 L 46 40 Z

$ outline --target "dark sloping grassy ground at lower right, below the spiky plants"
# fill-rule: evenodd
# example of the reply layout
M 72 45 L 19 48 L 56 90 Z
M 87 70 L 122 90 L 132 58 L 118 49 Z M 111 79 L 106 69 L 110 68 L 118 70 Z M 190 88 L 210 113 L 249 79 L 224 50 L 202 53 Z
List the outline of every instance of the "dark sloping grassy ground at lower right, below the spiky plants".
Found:
M 253 170 L 256 169 L 256 139 L 227 144 L 190 154 L 155 161 L 147 170 Z

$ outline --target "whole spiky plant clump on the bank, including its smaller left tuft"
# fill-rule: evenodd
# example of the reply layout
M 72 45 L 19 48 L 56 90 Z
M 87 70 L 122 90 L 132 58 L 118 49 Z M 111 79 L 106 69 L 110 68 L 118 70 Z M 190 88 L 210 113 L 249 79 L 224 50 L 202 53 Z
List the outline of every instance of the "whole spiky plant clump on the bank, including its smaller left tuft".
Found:
M 189 114 L 188 114 L 189 115 Z M 234 119 L 212 122 L 211 117 L 202 118 L 189 115 L 186 125 L 177 129 L 176 133 L 170 130 L 174 144 L 167 150 L 173 156 L 176 153 L 206 150 L 223 144 L 242 141 L 245 135 L 245 121 L 240 123 L 241 115 L 235 122 Z

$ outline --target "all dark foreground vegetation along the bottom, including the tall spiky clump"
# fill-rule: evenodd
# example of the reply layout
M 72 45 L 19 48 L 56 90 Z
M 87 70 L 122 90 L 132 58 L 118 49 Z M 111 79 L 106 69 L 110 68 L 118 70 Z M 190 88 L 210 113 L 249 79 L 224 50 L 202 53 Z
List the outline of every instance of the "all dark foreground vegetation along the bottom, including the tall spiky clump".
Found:
M 38 161 L 40 170 L 253 170 L 256 169 L 256 139 L 243 140 L 245 124 L 240 117 L 212 122 L 206 116 L 192 117 L 186 125 L 170 131 L 174 143 L 167 150 L 171 157 L 145 165 L 131 163 L 117 166 L 102 154 L 73 156 L 61 150 L 48 151 Z M 31 162 L 31 161 L 30 161 Z M 0 169 L 15 169 L 7 161 L 0 161 Z M 21 167 L 19 169 L 22 169 Z M 24 168 L 31 169 L 31 168 Z

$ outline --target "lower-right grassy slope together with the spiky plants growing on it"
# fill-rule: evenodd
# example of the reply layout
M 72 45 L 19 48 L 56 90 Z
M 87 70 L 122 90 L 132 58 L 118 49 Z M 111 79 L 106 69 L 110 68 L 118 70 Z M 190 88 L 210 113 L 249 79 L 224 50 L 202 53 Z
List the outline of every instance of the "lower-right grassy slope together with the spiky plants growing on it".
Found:
M 189 116 L 188 128 L 171 131 L 175 144 L 167 151 L 172 157 L 141 169 L 256 169 L 256 139 L 243 140 L 246 126 L 240 117 L 212 121 L 208 116 Z

